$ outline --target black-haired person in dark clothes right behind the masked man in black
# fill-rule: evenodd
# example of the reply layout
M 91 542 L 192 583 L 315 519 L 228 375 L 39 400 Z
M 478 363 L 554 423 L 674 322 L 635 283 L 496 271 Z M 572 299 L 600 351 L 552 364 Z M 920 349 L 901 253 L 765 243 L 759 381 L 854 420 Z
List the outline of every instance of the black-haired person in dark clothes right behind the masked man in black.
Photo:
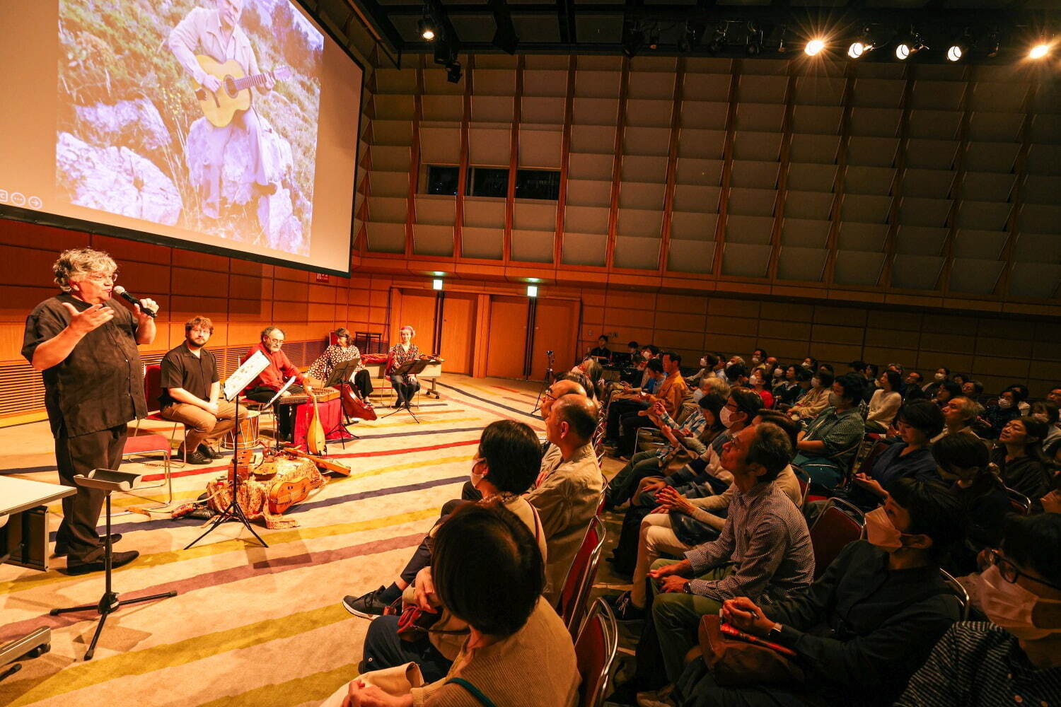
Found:
M 1002 542 L 1010 512 L 1006 487 L 990 464 L 988 446 L 973 435 L 949 435 L 932 445 L 939 474 L 951 484 L 969 523 L 966 542 L 955 548 L 945 569 L 956 577 L 976 571 L 976 553 Z

